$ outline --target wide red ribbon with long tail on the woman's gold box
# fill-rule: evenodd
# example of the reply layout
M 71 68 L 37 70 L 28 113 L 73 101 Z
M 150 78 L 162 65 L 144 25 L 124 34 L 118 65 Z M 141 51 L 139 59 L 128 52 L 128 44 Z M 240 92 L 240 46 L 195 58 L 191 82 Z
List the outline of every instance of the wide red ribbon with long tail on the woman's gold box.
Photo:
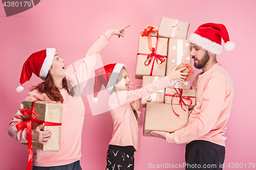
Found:
M 27 140 L 28 140 L 28 164 L 26 170 L 30 170 L 32 165 L 32 157 L 33 157 L 33 150 L 32 150 L 32 122 L 35 122 L 37 124 L 45 123 L 45 126 L 61 126 L 61 123 L 52 123 L 52 122 L 45 122 L 43 120 L 36 120 L 35 114 L 34 114 L 34 105 L 37 101 L 32 101 L 32 107 L 31 110 L 29 108 L 20 110 L 20 113 L 22 113 L 24 116 L 30 115 L 30 119 L 23 117 L 22 123 L 17 124 L 15 127 L 18 131 L 24 130 L 27 128 Z

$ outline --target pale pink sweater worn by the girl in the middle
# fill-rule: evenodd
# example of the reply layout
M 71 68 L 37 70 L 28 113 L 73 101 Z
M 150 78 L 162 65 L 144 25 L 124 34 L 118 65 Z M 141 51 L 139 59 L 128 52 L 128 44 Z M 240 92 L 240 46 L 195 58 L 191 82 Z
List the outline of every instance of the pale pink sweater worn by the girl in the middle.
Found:
M 119 146 L 132 145 L 137 151 L 138 123 L 130 103 L 170 85 L 169 78 L 166 76 L 163 79 L 148 84 L 140 89 L 131 91 L 123 90 L 111 94 L 109 108 L 114 123 L 114 131 L 110 144 Z

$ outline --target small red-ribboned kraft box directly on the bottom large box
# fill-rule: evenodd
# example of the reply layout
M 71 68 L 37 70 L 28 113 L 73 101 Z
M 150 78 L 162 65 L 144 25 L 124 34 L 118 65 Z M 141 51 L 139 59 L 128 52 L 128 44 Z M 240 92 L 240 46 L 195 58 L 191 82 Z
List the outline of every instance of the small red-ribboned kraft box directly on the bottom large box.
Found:
M 185 105 L 188 108 L 193 108 L 196 105 L 196 90 L 166 88 L 164 103 Z

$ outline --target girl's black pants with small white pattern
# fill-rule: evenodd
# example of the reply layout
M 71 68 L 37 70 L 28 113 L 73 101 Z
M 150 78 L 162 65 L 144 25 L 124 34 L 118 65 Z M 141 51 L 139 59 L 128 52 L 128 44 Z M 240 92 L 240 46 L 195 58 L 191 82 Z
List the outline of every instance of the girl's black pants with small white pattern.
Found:
M 134 156 L 120 150 L 110 149 L 106 154 L 106 170 L 133 170 Z

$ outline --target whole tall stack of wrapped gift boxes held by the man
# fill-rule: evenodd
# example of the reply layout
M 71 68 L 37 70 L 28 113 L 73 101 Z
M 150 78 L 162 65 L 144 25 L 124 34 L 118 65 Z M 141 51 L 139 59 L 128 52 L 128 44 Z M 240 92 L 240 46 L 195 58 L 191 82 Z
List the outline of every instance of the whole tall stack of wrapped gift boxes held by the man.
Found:
M 146 107 L 143 136 L 153 130 L 174 132 L 187 126 L 188 108 L 196 105 L 196 90 L 189 89 L 194 75 L 191 68 L 191 47 L 186 40 L 189 22 L 162 17 L 158 27 L 146 26 L 139 37 L 135 78 L 142 79 L 142 87 L 169 75 L 175 67 L 187 67 L 189 76 L 182 82 L 142 98 Z

